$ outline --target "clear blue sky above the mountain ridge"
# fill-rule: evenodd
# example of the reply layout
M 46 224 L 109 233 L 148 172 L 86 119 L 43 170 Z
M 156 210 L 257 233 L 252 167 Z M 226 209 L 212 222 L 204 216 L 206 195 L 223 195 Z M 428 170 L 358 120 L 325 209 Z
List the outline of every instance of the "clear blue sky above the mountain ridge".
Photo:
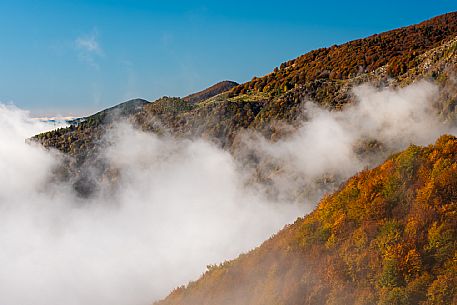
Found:
M 183 96 L 455 10 L 456 0 L 0 0 L 0 101 L 87 114 Z

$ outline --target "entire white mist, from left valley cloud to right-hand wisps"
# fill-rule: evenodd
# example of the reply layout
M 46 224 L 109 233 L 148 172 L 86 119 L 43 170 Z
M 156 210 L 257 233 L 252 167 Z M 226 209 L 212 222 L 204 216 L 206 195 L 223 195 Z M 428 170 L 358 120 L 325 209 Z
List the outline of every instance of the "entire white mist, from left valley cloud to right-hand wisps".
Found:
M 453 133 L 428 82 L 362 86 L 354 96 L 340 112 L 307 103 L 306 120 L 274 143 L 243 133 L 241 157 L 203 139 L 119 123 L 101 152 L 118 171 L 115 187 L 101 181 L 88 199 L 53 182 L 60 153 L 25 141 L 55 127 L 1 105 L 0 303 L 151 304 L 208 264 L 258 246 L 345 178 L 409 144 Z M 382 150 L 361 154 L 358 145 L 370 140 Z M 259 160 L 257 170 L 268 168 L 268 183 L 253 182 L 246 154 Z

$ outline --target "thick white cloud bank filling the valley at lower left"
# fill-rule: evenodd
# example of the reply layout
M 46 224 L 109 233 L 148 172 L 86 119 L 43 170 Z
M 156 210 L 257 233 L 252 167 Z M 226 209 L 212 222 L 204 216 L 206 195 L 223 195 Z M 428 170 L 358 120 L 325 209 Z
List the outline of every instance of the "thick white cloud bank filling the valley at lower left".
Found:
M 24 141 L 45 124 L 5 106 L 0 122 L 1 304 L 150 304 L 300 213 L 246 189 L 214 145 L 124 124 L 103 152 L 118 187 L 84 200 L 49 185 L 57 152 Z

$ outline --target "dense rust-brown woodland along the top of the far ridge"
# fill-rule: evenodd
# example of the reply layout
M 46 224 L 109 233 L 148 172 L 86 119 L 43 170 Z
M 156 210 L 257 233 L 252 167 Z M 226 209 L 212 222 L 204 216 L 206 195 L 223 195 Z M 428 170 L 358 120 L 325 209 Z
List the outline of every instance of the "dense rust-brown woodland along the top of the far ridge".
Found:
M 282 63 L 279 68 L 232 90 L 233 95 L 265 92 L 279 95 L 308 81 L 345 80 L 387 67 L 396 77 L 418 64 L 417 57 L 457 32 L 457 15 L 446 14 L 340 46 L 322 48 Z

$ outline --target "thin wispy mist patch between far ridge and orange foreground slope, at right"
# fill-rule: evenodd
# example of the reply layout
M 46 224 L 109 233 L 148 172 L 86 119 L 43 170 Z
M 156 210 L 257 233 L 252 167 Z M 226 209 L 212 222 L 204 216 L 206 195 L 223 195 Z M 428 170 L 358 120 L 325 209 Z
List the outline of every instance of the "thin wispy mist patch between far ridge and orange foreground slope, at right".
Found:
M 274 143 L 244 132 L 241 162 L 246 156 L 257 160 L 251 171 L 268 182 L 270 195 L 279 201 L 298 200 L 310 210 L 324 193 L 355 173 L 411 144 L 428 145 L 444 133 L 455 133 L 454 122 L 442 118 L 439 89 L 433 83 L 419 81 L 397 89 L 362 85 L 353 89 L 353 96 L 355 102 L 342 111 L 305 102 L 300 127 Z

